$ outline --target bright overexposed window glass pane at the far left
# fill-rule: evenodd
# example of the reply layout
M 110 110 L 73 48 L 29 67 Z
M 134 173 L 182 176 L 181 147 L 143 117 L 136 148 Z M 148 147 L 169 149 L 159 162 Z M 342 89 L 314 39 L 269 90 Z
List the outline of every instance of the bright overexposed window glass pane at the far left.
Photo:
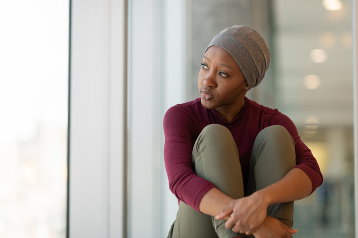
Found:
M 0 1 L 0 237 L 66 234 L 69 2 Z

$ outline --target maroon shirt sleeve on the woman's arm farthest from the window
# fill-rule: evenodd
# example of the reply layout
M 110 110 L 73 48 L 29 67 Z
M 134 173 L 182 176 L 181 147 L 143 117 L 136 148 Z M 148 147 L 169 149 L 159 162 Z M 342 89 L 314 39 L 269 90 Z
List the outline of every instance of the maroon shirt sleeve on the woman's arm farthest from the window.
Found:
M 290 133 L 295 141 L 296 166 L 294 168 L 302 169 L 311 179 L 312 192 L 316 190 L 323 182 L 323 176 L 319 169 L 317 160 L 313 157 L 311 150 L 306 146 L 298 135 L 295 124 L 286 115 L 276 111 L 270 119 L 270 125 L 282 125 Z

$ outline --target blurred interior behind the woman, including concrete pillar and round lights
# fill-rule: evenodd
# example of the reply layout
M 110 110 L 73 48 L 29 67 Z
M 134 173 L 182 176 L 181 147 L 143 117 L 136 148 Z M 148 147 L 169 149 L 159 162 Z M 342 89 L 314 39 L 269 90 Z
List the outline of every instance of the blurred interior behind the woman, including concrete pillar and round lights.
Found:
M 223 3 L 225 2 L 225 3 Z M 349 0 L 189 1 L 188 100 L 198 97 L 199 63 L 210 40 L 248 25 L 267 40 L 271 63 L 248 97 L 294 121 L 324 183 L 295 203 L 294 237 L 354 237 L 352 2 Z

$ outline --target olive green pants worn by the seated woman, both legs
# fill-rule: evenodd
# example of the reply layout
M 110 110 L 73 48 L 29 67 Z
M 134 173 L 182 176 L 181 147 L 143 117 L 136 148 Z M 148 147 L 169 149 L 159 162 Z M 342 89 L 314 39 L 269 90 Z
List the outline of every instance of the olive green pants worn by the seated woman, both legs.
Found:
M 198 176 L 231 198 L 244 197 L 237 147 L 226 127 L 219 124 L 206 126 L 195 142 L 192 160 Z M 279 125 L 263 129 L 254 143 L 246 196 L 282 179 L 295 165 L 294 141 L 287 130 Z M 292 227 L 293 202 L 270 205 L 268 215 Z M 224 223 L 225 220 L 197 212 L 180 201 L 168 238 L 250 237 L 226 229 Z

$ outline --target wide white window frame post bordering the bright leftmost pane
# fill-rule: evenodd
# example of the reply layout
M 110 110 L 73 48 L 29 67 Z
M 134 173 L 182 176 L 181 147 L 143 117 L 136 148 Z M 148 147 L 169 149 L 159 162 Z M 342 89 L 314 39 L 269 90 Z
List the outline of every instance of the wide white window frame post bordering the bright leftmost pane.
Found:
M 126 236 L 126 19 L 126 0 L 71 2 L 71 238 Z

